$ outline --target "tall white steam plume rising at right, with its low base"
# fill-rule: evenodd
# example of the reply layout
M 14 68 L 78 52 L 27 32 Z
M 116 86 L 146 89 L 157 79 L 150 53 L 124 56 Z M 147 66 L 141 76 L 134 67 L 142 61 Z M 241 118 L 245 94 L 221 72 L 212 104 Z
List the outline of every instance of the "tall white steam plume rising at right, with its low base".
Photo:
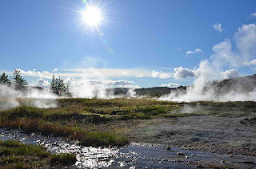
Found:
M 214 101 L 256 101 L 255 81 L 243 78 L 242 81 L 233 81 L 232 85 L 226 84 L 226 90 L 214 82 L 225 78 L 237 77 L 236 69 L 244 66 L 253 66 L 256 56 L 256 25 L 244 25 L 234 34 L 234 45 L 232 41 L 226 39 L 214 45 L 214 54 L 209 60 L 203 60 L 198 65 L 198 69 L 175 69 L 174 78 L 194 77 L 192 86 L 186 88 L 186 92 L 174 90 L 167 96 L 162 96 L 159 100 L 170 100 L 178 102 L 190 102 L 198 100 Z M 228 68 L 228 70 L 225 70 Z M 225 71 L 224 71 L 225 70 Z M 224 81 L 225 82 L 225 81 Z M 241 84 L 244 84 L 241 86 Z M 223 85 L 225 85 L 223 83 Z M 245 87 L 246 86 L 246 87 Z M 250 86 L 248 89 L 247 86 Z

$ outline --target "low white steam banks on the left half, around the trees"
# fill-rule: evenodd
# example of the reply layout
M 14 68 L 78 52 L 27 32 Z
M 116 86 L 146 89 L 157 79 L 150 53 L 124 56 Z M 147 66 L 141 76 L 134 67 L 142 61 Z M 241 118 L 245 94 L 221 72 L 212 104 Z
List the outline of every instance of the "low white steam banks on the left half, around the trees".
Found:
M 125 95 L 114 95 L 113 92 L 106 92 L 106 85 L 82 84 L 73 86 L 73 98 L 98 98 L 114 99 L 120 97 L 135 97 L 134 88 L 130 88 Z M 57 108 L 58 98 L 66 96 L 57 96 L 53 92 L 44 88 L 26 87 L 16 89 L 14 86 L 0 85 L 0 110 L 16 108 L 18 106 L 31 106 L 36 108 Z

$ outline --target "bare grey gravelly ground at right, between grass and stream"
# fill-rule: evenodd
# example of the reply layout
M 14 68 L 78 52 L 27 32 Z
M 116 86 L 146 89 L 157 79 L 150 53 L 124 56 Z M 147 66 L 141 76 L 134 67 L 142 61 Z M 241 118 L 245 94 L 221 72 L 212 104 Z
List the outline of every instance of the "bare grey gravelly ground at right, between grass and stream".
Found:
M 161 143 L 230 155 L 256 155 L 254 113 L 114 121 L 90 128 L 123 133 L 132 142 Z

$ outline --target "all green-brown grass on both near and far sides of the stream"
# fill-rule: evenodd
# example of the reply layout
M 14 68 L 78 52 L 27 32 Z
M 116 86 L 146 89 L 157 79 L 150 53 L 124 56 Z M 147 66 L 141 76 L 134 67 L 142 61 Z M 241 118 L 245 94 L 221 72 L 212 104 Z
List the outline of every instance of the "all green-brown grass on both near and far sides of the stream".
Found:
M 18 99 L 20 104 L 31 99 Z M 17 128 L 23 132 L 37 132 L 44 136 L 62 136 L 78 140 L 84 146 L 123 146 L 134 140 L 134 131 L 144 128 L 154 120 L 175 120 L 189 116 L 232 117 L 256 112 L 254 102 L 192 102 L 174 103 L 150 99 L 59 99 L 58 108 L 33 108 L 21 106 L 0 111 L 0 127 Z M 256 123 L 250 116 L 242 123 Z M 162 122 L 160 122 L 161 124 Z M 166 124 L 171 125 L 169 121 Z M 161 136 L 161 135 L 160 135 Z M 138 140 L 143 141 L 143 140 Z M 22 168 L 26 160 L 40 159 L 31 165 L 67 165 L 65 158 L 72 155 L 50 155 L 42 147 L 27 146 L 16 142 L 0 143 L 2 165 Z M 17 145 L 16 145 L 17 144 Z M 31 148 L 36 155 L 24 154 L 20 148 Z M 18 148 L 18 149 L 17 149 Z M 23 160 L 24 159 L 24 160 Z M 63 162 L 63 163 L 62 163 Z M 34 164 L 38 163 L 38 164 Z M 26 165 L 25 165 L 26 167 Z

